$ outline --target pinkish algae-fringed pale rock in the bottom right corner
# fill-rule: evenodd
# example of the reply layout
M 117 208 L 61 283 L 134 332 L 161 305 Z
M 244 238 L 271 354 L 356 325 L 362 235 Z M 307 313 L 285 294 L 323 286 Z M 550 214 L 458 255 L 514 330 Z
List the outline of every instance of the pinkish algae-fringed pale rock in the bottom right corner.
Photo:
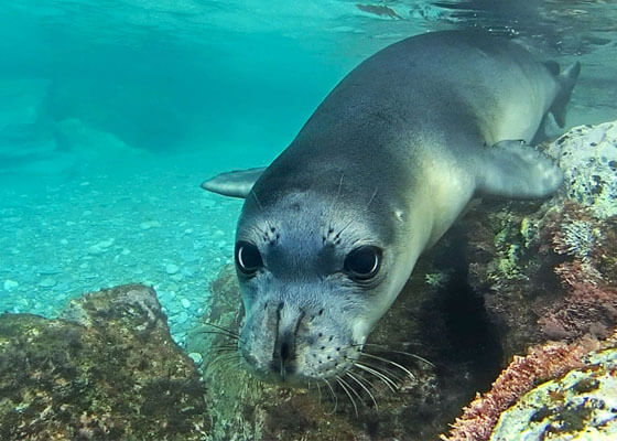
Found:
M 613 440 L 617 434 L 617 333 L 546 343 L 515 357 L 444 441 Z

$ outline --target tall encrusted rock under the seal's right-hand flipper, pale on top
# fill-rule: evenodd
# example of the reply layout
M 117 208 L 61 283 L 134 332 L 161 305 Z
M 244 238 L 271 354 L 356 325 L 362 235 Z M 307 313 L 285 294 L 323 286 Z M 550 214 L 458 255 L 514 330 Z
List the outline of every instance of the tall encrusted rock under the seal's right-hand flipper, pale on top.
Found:
M 492 203 L 462 223 L 469 281 L 507 357 L 546 340 L 605 338 L 617 325 L 617 169 L 597 151 L 617 151 L 615 127 L 574 128 L 548 147 L 566 176 L 553 198 Z

